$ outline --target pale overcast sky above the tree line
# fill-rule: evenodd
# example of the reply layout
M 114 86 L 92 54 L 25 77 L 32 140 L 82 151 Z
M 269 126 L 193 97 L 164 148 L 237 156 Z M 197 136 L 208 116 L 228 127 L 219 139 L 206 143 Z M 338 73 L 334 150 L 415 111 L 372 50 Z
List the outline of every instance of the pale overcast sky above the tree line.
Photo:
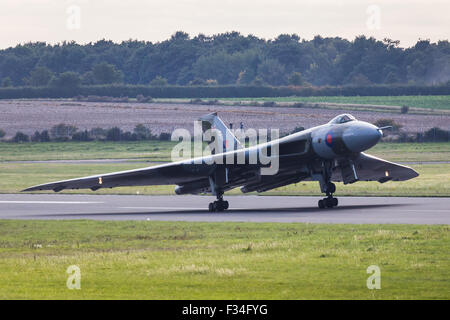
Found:
M 238 31 L 273 39 L 366 35 L 400 40 L 450 38 L 449 0 L 0 0 L 0 48 L 26 42 L 100 39 L 158 42 Z

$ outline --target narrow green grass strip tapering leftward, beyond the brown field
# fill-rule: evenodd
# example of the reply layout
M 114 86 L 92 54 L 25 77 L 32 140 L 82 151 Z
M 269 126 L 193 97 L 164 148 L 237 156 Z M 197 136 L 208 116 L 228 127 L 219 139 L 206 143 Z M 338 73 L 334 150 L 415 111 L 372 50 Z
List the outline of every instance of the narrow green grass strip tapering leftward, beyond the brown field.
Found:
M 331 97 L 277 97 L 277 98 L 221 98 L 223 101 L 275 101 L 370 104 L 383 106 L 409 106 L 413 108 L 450 110 L 450 96 L 331 96 Z

